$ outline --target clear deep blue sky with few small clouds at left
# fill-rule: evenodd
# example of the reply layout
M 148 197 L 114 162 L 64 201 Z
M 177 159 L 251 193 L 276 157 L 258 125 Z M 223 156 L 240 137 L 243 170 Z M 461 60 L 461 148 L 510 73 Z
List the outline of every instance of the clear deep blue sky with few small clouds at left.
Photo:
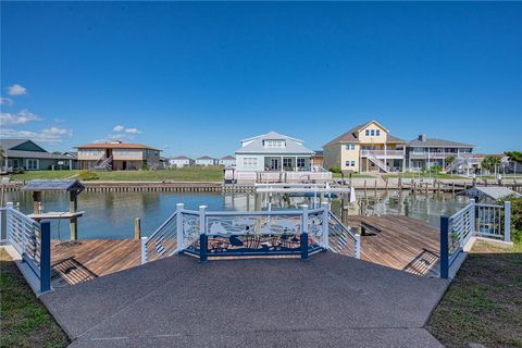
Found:
M 522 3 L 1 3 L 2 137 L 233 153 L 377 120 L 522 150 Z

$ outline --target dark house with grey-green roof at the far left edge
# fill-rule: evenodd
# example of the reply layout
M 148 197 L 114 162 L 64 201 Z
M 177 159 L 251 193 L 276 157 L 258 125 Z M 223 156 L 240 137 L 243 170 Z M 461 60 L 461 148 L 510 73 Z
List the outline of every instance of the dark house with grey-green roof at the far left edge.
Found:
M 26 171 L 73 170 L 77 159 L 70 153 L 50 153 L 29 139 L 0 139 L 3 171 L 23 167 Z

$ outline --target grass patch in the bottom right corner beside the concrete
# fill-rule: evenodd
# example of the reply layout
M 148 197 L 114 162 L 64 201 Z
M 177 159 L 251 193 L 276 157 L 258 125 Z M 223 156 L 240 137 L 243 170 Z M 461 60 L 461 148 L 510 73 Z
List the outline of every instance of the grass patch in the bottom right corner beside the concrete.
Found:
M 478 240 L 427 324 L 446 347 L 522 347 L 522 244 Z

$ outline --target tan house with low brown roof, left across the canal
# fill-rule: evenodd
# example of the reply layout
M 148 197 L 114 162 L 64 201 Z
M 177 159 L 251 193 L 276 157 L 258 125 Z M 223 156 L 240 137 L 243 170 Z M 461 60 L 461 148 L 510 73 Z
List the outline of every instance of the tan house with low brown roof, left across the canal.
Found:
M 160 150 L 141 144 L 114 141 L 75 148 L 78 149 L 80 169 L 136 171 L 160 166 Z

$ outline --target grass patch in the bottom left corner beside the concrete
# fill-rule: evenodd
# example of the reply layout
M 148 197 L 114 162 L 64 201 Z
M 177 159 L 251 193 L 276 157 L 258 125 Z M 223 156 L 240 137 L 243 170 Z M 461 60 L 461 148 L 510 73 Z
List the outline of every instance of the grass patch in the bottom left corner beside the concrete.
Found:
M 69 338 L 0 248 L 0 347 L 66 347 Z

